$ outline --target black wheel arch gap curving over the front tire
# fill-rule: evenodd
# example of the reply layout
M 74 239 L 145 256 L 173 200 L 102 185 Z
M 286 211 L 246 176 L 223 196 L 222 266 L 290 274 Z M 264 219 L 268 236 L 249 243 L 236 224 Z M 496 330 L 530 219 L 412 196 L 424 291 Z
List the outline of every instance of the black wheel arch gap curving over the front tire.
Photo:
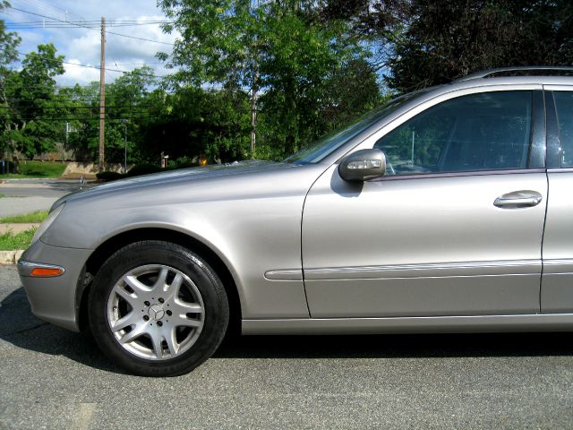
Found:
M 230 331 L 232 334 L 241 331 L 241 299 L 235 278 L 227 263 L 210 246 L 205 245 L 199 239 L 169 228 L 135 228 L 111 236 L 98 245 L 85 263 L 84 270 L 81 272 L 82 279 L 78 281 L 76 291 L 76 321 L 79 322 L 82 331 L 89 327 L 87 307 L 93 276 L 98 273 L 103 263 L 115 251 L 141 240 L 162 240 L 181 245 L 200 255 L 202 259 L 208 262 L 213 271 L 217 273 L 227 292 L 230 310 L 229 328 L 227 331 Z

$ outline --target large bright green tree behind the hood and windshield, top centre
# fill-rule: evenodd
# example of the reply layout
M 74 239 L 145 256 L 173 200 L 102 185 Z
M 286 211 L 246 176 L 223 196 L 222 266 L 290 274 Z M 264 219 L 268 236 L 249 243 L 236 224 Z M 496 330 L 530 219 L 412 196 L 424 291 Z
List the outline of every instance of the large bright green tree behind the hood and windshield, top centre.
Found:
M 241 98 L 237 91 L 247 93 L 251 133 L 249 151 L 244 152 L 251 156 L 282 158 L 316 137 L 324 125 L 321 113 L 332 99 L 329 85 L 336 85 L 333 80 L 344 74 L 342 70 L 365 55 L 345 22 L 318 19 L 320 2 L 164 0 L 160 4 L 175 20 L 166 30 L 176 29 L 182 35 L 172 56 L 160 56 L 178 68 L 172 88 L 209 83 L 235 92 L 235 99 Z

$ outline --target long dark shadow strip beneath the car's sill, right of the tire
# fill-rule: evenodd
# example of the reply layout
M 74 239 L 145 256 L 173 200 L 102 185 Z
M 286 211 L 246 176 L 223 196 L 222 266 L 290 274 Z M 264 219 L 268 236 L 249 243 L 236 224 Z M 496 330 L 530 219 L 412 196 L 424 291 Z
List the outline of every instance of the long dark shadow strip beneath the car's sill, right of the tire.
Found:
M 573 356 L 573 333 L 243 336 L 219 358 L 417 358 Z

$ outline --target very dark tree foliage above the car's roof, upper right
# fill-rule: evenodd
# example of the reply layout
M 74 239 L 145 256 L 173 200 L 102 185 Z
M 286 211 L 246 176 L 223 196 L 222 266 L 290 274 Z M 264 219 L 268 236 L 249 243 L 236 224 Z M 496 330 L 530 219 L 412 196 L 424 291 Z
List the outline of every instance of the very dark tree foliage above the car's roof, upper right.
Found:
M 569 0 L 412 0 L 389 60 L 400 92 L 501 66 L 573 63 Z

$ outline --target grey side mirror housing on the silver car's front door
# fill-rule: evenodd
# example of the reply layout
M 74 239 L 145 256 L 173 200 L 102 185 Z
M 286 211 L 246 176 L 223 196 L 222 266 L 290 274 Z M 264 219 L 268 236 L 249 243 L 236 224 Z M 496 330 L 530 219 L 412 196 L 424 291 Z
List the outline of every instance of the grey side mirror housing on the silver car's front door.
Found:
M 338 165 L 338 174 L 345 181 L 366 181 L 386 173 L 386 156 L 381 150 L 357 150 Z

